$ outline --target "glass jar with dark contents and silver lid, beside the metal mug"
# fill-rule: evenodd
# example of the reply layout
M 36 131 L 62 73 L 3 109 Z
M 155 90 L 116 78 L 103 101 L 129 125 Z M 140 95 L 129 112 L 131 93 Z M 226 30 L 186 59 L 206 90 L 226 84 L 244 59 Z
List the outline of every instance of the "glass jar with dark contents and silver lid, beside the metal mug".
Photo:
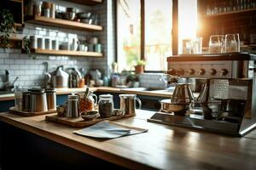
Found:
M 110 117 L 113 114 L 113 95 L 102 94 L 99 96 L 99 114 L 101 117 Z

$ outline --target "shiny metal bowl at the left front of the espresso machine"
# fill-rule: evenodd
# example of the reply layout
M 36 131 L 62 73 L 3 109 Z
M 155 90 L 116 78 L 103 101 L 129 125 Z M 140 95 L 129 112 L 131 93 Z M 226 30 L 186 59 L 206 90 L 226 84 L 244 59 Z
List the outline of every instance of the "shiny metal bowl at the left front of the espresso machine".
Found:
M 189 104 L 187 103 L 172 103 L 171 99 L 160 100 L 161 109 L 167 113 L 174 113 L 175 115 L 185 116 L 186 111 L 189 110 Z

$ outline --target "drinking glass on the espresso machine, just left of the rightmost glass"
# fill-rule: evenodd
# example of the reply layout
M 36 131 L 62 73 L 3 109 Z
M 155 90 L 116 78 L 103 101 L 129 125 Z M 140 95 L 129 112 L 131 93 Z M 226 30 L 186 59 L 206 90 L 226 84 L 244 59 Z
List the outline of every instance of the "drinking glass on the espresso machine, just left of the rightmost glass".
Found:
M 224 36 L 223 35 L 213 35 L 210 37 L 209 53 L 210 54 L 224 53 Z

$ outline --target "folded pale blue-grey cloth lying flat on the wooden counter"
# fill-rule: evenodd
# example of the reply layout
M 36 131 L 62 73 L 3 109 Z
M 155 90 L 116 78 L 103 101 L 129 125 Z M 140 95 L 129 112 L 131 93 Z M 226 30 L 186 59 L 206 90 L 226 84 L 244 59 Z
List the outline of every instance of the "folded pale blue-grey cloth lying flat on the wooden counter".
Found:
M 83 129 L 74 131 L 73 133 L 97 139 L 114 139 L 122 136 L 144 133 L 147 131 L 148 129 L 128 127 L 116 122 L 103 121 L 98 122 L 90 127 L 85 127 Z

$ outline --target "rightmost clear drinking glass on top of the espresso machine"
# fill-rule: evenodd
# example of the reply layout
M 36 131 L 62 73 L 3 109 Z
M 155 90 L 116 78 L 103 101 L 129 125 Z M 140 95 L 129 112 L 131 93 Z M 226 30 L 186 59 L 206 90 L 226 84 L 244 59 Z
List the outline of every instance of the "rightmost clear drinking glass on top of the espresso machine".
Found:
M 225 35 L 225 53 L 240 52 L 239 34 Z

